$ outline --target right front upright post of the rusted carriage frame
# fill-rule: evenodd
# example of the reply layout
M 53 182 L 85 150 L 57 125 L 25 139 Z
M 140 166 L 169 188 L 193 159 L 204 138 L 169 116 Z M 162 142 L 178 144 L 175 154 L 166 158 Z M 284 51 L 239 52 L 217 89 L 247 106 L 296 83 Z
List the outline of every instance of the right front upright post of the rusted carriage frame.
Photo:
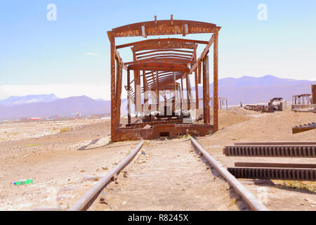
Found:
M 218 31 L 213 34 L 213 126 L 218 131 Z

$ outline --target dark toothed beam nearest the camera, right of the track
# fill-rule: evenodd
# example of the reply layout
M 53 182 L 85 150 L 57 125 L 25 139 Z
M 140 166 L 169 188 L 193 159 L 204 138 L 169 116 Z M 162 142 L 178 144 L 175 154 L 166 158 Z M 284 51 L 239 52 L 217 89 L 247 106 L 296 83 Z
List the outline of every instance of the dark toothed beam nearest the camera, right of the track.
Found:
M 232 167 L 228 171 L 242 179 L 316 181 L 316 169 Z

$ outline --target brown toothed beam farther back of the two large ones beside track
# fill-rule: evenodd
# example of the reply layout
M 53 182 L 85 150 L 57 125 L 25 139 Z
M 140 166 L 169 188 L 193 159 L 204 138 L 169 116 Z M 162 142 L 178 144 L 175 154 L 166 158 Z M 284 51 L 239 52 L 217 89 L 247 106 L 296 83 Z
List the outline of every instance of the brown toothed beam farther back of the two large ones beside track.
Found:
M 316 145 L 225 146 L 223 154 L 236 157 L 316 158 Z

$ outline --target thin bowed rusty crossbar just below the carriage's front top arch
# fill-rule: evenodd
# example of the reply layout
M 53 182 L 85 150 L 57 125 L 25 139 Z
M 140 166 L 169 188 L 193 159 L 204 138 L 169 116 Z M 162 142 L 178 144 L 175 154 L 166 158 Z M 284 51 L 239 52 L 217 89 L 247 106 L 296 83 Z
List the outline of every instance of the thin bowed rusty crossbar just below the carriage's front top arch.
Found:
M 147 39 L 144 41 L 136 41 L 136 42 L 131 42 L 127 44 L 121 44 L 116 46 L 116 49 L 122 49 L 126 48 L 129 46 L 134 46 L 136 51 L 141 51 L 137 50 L 137 47 L 139 46 L 145 46 L 145 45 L 152 45 L 152 44 L 157 44 L 164 46 L 164 42 L 169 42 L 169 43 L 190 43 L 190 44 L 209 44 L 208 41 L 201 41 L 201 40 L 192 40 L 192 39 L 180 39 L 180 38 L 164 38 L 164 39 Z M 180 49 L 180 48 L 175 48 L 175 49 Z M 155 49 L 156 50 L 156 49 Z

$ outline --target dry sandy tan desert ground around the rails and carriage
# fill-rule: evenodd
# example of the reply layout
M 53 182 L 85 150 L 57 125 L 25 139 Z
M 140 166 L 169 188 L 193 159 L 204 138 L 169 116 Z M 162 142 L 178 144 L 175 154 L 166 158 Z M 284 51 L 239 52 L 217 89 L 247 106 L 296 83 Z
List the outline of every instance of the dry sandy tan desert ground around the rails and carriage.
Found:
M 220 110 L 219 121 L 220 131 L 198 141 L 226 167 L 234 162 L 279 162 L 278 158 L 225 157 L 223 147 L 237 141 L 316 141 L 316 130 L 291 134 L 291 127 L 316 122 L 315 114 L 292 113 L 289 109 L 274 114 L 231 109 Z M 25 127 L 31 125 L 29 132 Z M 20 127 L 0 124 L 0 136 L 5 139 L 0 142 L 0 210 L 67 210 L 139 143 L 111 143 L 109 121 L 70 121 L 56 126 L 40 122 Z M 45 134 L 44 130 L 51 127 L 57 132 L 70 127 L 70 131 Z M 10 137 L 4 132 L 18 134 Z M 238 210 L 228 185 L 206 169 L 192 152 L 190 141 L 146 141 L 143 148 L 147 158 L 140 157 L 126 167 L 127 173 L 119 175 L 118 184 L 105 188 L 91 210 Z M 312 163 L 315 159 L 282 161 Z M 13 185 L 28 178 L 34 179 L 34 184 Z M 287 187 L 283 181 L 275 184 L 246 187 L 258 198 L 266 197 L 262 200 L 270 210 L 316 210 L 315 182 L 299 182 L 296 188 Z M 105 202 L 100 203 L 100 198 Z M 241 202 L 237 203 L 242 209 Z

